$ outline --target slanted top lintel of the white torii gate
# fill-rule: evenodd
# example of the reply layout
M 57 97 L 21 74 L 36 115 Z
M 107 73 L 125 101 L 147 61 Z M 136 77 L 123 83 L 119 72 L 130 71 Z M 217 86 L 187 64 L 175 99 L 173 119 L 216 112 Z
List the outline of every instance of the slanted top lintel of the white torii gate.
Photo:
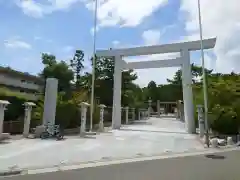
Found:
M 203 49 L 212 49 L 215 47 L 216 38 L 204 39 Z M 182 50 L 197 51 L 201 50 L 201 41 L 188 41 L 174 44 L 163 44 L 154 46 L 141 46 L 123 49 L 97 50 L 96 55 L 102 57 L 119 56 L 141 56 L 149 54 L 164 54 L 181 52 Z

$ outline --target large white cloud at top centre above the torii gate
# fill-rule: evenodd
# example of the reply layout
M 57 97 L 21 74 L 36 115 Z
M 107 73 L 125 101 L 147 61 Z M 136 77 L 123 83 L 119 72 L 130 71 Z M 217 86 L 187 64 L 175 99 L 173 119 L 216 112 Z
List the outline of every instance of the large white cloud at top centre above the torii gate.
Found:
M 94 10 L 92 0 L 85 0 L 86 7 Z M 168 0 L 99 0 L 98 20 L 100 26 L 137 26 Z M 130 4 L 132 5 L 130 5 Z

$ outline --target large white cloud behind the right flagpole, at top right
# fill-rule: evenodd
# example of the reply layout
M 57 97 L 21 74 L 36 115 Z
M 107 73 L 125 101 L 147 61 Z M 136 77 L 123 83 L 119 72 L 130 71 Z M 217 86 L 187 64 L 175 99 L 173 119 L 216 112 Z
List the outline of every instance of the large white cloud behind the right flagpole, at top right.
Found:
M 205 38 L 217 36 L 214 53 L 219 72 L 240 72 L 239 9 L 239 0 L 201 0 L 203 35 Z M 188 12 L 188 35 L 199 39 L 197 1 L 182 0 L 181 10 Z

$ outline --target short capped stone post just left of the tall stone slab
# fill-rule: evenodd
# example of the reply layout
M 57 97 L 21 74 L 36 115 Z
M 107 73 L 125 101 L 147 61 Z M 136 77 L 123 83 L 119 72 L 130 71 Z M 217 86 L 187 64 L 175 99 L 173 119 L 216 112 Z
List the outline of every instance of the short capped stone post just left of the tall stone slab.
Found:
M 31 123 L 32 107 L 36 106 L 36 104 L 34 104 L 32 102 L 25 102 L 23 105 L 25 106 L 23 136 L 28 137 L 30 123 Z

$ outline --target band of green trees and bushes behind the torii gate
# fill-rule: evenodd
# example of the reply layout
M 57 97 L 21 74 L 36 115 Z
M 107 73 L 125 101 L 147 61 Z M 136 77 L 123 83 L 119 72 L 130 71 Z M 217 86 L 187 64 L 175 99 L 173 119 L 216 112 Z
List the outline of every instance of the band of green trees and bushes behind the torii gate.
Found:
M 56 120 L 64 127 L 79 125 L 77 105 L 90 102 L 91 72 L 84 72 L 84 52 L 76 50 L 69 63 L 59 61 L 54 55 L 42 54 L 43 70 L 40 77 L 55 77 L 59 80 Z M 92 61 L 92 60 L 91 60 Z M 95 99 L 101 104 L 112 106 L 114 59 L 96 58 Z M 213 73 L 205 69 L 208 83 L 209 120 L 212 130 L 222 134 L 236 134 L 240 127 L 240 74 Z M 161 74 L 159 74 L 161 75 Z M 194 103 L 203 104 L 202 68 L 192 65 Z M 141 88 L 135 84 L 137 74 L 133 70 L 123 72 L 122 106 L 147 107 L 152 101 L 182 100 L 181 70 L 175 73 L 168 84 L 158 85 L 154 81 Z M 43 111 L 43 97 L 37 102 L 33 120 L 40 121 Z M 94 122 L 98 122 L 97 108 Z

